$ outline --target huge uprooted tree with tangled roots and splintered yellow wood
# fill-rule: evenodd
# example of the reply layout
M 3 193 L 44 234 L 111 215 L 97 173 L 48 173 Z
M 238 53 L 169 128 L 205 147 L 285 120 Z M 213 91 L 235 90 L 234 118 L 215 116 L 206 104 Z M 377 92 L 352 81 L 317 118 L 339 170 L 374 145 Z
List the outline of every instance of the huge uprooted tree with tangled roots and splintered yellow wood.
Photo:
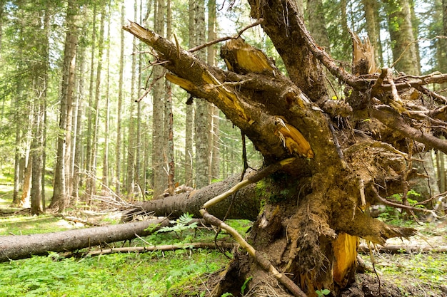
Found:
M 248 173 L 243 185 L 251 185 L 245 194 L 228 198 L 237 199 L 234 203 L 224 203 L 224 195 L 217 204 L 204 204 L 221 194 L 214 185 L 141 207 L 159 215 L 196 212 L 218 226 L 224 223 L 217 217 L 225 214 L 243 218 L 245 208 L 253 219 L 253 209 L 259 212 L 248 243 L 241 244 L 248 253 L 235 256 L 216 296 L 231 286 L 239 290 L 236 278 L 243 283 L 251 276 L 259 283 L 271 281 L 272 274 L 295 296 L 316 296 L 322 288 L 336 296 L 353 281 L 359 238 L 384 244 L 414 233 L 372 219 L 368 207 L 390 204 L 411 212 L 408 204 L 386 197 L 403 193 L 405 201 L 418 152 L 447 153 L 440 137 L 446 132 L 446 108 L 436 107 L 447 98 L 426 87 L 446 83 L 447 75 L 395 77 L 391 69 L 376 70 L 368 46 L 359 42 L 349 73 L 316 45 L 294 1 L 248 2 L 287 76 L 238 36 L 221 48 L 224 71 L 139 24 L 124 29 L 154 48 L 171 83 L 220 108 L 262 153 L 270 175 Z M 344 85 L 346 98 L 330 98 L 327 71 Z M 223 188 L 237 182 L 224 181 Z

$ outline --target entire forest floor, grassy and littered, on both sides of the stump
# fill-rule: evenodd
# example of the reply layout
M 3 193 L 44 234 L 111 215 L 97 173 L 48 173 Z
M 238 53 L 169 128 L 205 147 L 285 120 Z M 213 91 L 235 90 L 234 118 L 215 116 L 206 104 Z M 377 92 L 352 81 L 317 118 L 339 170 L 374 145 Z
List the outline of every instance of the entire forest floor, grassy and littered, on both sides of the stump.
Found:
M 26 209 L 14 209 L 9 207 L 10 204 L 11 186 L 0 185 L 0 236 L 84 227 L 84 224 L 51 214 L 32 217 Z M 119 222 L 118 213 L 96 216 L 98 218 L 104 224 Z M 418 233 L 409 240 L 387 241 L 387 244 L 402 247 L 398 253 L 375 250 L 372 256 L 361 254 L 369 271 L 358 273 L 357 282 L 343 292 L 343 296 L 446 297 L 447 253 L 438 252 L 436 248 L 447 246 L 447 222 L 418 225 L 396 217 L 390 222 L 413 226 Z M 231 224 L 241 233 L 250 225 L 243 221 Z M 159 233 L 114 246 L 212 241 L 214 235 L 214 231 L 208 229 L 184 231 L 181 234 Z M 219 235 L 219 239 L 226 237 L 226 234 Z M 415 245 L 430 247 L 431 251 L 405 251 L 408 246 Z M 81 258 L 50 253 L 49 256 L 34 256 L 0 264 L 0 296 L 209 296 L 212 279 L 228 264 L 226 256 L 229 255 L 207 249 Z M 249 292 L 245 293 L 244 296 L 250 296 Z

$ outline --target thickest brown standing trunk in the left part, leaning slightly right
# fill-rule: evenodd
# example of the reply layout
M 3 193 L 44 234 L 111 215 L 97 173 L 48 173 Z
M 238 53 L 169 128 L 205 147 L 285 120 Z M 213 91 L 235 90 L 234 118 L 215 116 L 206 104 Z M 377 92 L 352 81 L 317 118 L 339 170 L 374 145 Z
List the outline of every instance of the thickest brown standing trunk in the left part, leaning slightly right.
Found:
M 66 167 L 69 166 L 69 156 L 66 155 L 69 144 L 66 140 L 71 133 L 71 105 L 73 102 L 74 78 L 76 72 L 76 46 L 78 42 L 76 28 L 76 1 L 70 0 L 67 7 L 67 33 L 64 51 L 64 76 L 61 88 L 61 107 L 59 112 L 59 135 L 57 141 L 56 168 L 54 170 L 54 192 L 50 207 L 58 212 L 64 212 L 69 204 L 69 192 L 66 188 Z M 70 112 L 70 114 L 69 114 Z M 68 150 L 69 152 L 69 150 Z

